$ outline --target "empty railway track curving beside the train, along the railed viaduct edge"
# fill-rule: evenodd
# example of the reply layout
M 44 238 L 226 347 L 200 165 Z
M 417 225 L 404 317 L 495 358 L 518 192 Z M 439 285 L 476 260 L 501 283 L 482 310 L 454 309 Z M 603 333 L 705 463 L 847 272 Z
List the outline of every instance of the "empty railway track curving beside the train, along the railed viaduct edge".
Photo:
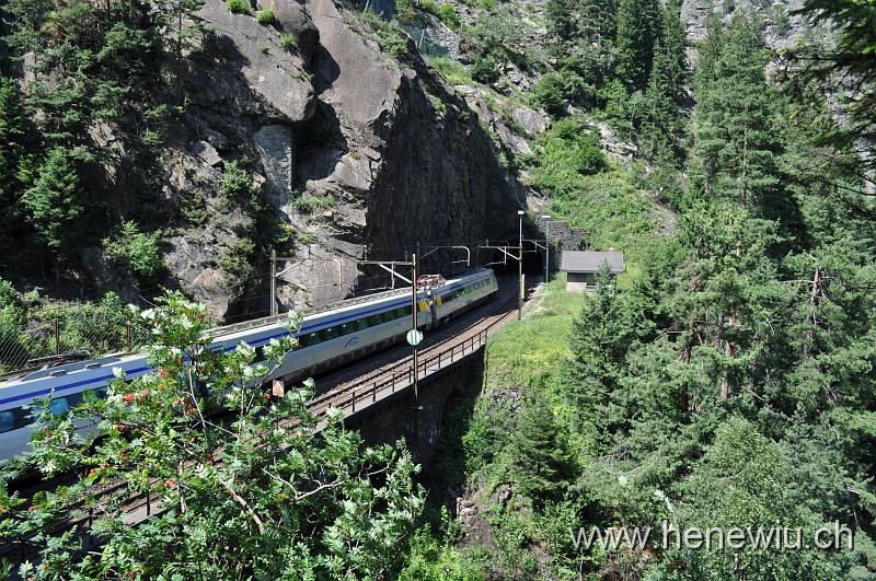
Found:
M 508 292 L 508 287 L 511 287 L 511 292 Z M 515 287 L 515 284 L 506 284 L 496 300 L 461 315 L 446 327 L 440 327 L 431 333 L 425 347 L 419 350 L 418 376 L 428 376 L 429 370 L 435 367 L 436 361 L 438 368 L 442 369 L 441 364 L 446 363 L 448 358 L 452 364 L 456 360 L 468 357 L 484 345 L 488 335 L 496 333 L 511 321 L 516 316 Z M 318 418 L 324 417 L 332 407 L 347 410 L 351 407 L 351 412 L 356 412 L 357 398 L 360 404 L 367 404 L 367 397 L 370 395 L 372 403 L 377 403 L 378 393 L 387 390 L 394 393 L 410 385 L 414 373 L 412 363 L 411 348 L 396 346 L 358 364 L 354 363 L 342 370 L 324 374 L 318 379 L 318 394 L 309 403 L 310 410 Z M 285 426 L 295 423 L 296 419 L 290 418 Z M 217 456 L 219 455 L 217 453 Z M 96 488 L 95 495 L 92 495 L 94 500 L 92 504 L 101 506 L 103 500 L 116 498 L 126 489 L 127 483 L 124 481 L 105 483 Z M 92 488 L 92 491 L 94 490 Z M 125 514 L 125 521 L 136 524 L 160 511 L 161 507 L 157 507 L 154 500 L 148 492 L 130 493 L 120 511 Z M 77 525 L 90 528 L 93 509 L 85 509 L 85 499 L 74 503 L 70 512 L 80 515 L 59 524 L 55 532 L 61 533 Z M 23 539 L 4 539 L 0 544 L 0 557 L 19 560 L 19 562 L 36 554 L 37 547 Z

